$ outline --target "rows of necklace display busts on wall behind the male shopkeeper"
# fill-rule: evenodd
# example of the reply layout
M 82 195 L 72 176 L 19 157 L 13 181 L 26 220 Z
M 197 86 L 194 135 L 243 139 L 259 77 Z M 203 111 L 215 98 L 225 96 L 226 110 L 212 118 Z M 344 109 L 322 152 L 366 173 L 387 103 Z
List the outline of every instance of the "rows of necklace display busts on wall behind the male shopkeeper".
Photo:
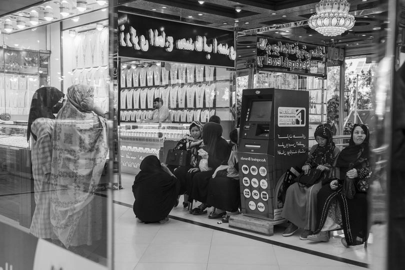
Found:
M 153 109 L 153 99 L 156 97 L 160 97 L 163 105 L 169 108 L 172 122 L 189 122 L 189 119 L 207 122 L 209 117 L 215 114 L 215 108 L 229 107 L 230 71 L 225 68 L 167 62 L 149 62 L 145 66 L 145 63 L 142 62 L 140 65 L 123 63 L 121 70 L 125 76 L 120 76 L 122 80 L 120 85 L 125 85 L 125 87 L 121 87 L 120 100 L 124 98 L 125 102 L 120 102 L 120 112 L 130 110 L 129 113 L 132 113 L 132 110 L 135 110 L 133 114 L 129 114 L 135 115 L 135 120 L 133 117 L 124 117 L 124 120 L 119 117 L 121 121 L 137 122 L 147 117 L 146 113 L 143 118 L 139 118 L 136 115 L 140 115 L 141 112 L 136 111 Z M 134 86 L 136 85 L 133 79 L 134 74 L 139 76 L 139 85 L 143 84 L 141 82 L 142 70 L 145 74 L 144 83 L 146 85 Z M 197 81 L 199 76 L 196 75 L 197 70 L 200 70 L 199 73 L 202 74 L 202 82 Z M 208 70 L 206 75 L 205 70 Z M 218 70 L 221 80 L 216 79 L 216 70 Z M 146 78 L 148 74 L 150 78 Z M 133 86 L 127 86 L 130 85 L 128 76 L 132 78 Z M 211 78 L 211 80 L 207 81 L 205 78 Z M 193 80 L 191 81 L 191 79 Z M 175 83 L 172 83 L 173 81 Z M 180 81 L 184 82 L 179 83 Z M 149 83 L 152 85 L 148 85 Z M 123 92 L 123 89 L 126 91 Z

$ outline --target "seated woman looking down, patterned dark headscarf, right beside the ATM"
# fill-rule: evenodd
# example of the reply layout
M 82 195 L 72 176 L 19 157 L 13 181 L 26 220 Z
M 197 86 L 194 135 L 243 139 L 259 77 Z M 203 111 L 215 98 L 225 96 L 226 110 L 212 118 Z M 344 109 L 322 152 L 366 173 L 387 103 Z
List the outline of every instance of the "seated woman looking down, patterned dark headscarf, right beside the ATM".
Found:
M 314 137 L 317 143 L 311 147 L 302 170 L 307 174 L 311 168 L 316 168 L 327 174 L 340 149 L 334 145 L 329 124 L 318 125 Z M 282 236 L 290 236 L 298 228 L 303 229 L 299 236 L 301 240 L 313 233 L 316 228 L 316 194 L 321 187 L 321 182 L 309 187 L 295 182 L 287 188 L 281 215 L 290 223 Z

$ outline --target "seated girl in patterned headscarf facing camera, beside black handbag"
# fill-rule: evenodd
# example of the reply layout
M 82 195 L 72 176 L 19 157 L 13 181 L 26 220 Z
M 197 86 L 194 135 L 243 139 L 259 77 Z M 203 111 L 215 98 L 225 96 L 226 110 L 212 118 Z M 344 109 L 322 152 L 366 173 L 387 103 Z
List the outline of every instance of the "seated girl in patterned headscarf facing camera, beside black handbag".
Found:
M 193 174 L 199 171 L 198 168 L 198 149 L 202 143 L 202 124 L 199 121 L 192 121 L 189 126 L 190 134 L 186 134 L 180 139 L 174 149 L 187 150 L 189 153 L 189 161 L 185 166 L 178 166 L 174 168 L 173 173 L 180 181 L 179 194 L 184 194 L 183 206 L 187 207 L 188 196 L 185 194 L 186 188 L 186 175 Z M 191 175 L 190 175 L 191 177 Z

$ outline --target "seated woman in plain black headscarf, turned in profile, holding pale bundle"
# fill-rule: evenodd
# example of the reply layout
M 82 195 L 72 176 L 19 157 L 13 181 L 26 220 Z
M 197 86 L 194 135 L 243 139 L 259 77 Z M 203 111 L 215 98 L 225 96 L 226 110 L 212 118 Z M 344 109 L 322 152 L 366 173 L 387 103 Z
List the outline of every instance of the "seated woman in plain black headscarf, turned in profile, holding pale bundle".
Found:
M 198 207 L 191 210 L 192 214 L 198 215 L 206 213 L 207 191 L 208 182 L 215 169 L 221 165 L 222 162 L 228 160 L 230 148 L 224 138 L 222 138 L 222 126 L 214 122 L 207 122 L 202 128 L 204 134 L 202 147 L 206 154 L 202 154 L 201 158 L 207 161 L 209 170 L 199 171 L 195 173 L 190 180 L 191 190 L 189 192 L 188 201 L 193 199 L 202 202 Z M 204 160 L 200 160 L 204 161 Z

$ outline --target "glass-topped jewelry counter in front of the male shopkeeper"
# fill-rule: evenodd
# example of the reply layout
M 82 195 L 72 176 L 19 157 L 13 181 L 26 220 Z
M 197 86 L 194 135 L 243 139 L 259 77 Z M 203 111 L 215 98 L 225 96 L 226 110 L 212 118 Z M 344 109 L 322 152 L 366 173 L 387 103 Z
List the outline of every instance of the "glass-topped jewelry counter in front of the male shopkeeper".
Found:
M 125 123 L 119 126 L 121 172 L 137 174 L 140 162 L 147 155 L 165 161 L 167 150 L 173 148 L 185 134 L 189 124 Z

